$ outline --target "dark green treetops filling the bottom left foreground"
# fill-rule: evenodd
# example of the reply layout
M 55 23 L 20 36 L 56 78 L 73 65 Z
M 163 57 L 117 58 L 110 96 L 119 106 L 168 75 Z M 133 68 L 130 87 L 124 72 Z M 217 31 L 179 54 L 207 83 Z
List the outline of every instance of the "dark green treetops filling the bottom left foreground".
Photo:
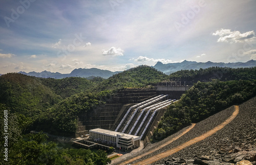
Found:
M 0 104 L 0 109 L 7 109 Z M 0 119 L 3 121 L 3 115 Z M 8 116 L 8 163 L 2 158 L 1 164 L 108 164 L 111 160 L 106 152 L 93 152 L 86 149 L 63 148 L 54 142 L 49 142 L 45 133 L 25 133 L 28 126 L 24 117 L 10 113 Z M 3 134 L 3 127 L 1 133 Z M 4 140 L 1 138 L 4 146 Z M 1 153 L 4 148 L 1 147 Z

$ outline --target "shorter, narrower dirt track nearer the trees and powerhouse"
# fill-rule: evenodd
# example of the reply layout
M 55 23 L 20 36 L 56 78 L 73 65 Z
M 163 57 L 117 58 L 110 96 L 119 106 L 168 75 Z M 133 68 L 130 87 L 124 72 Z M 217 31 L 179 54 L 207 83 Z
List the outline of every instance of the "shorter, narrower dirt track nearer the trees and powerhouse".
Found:
M 170 143 L 173 143 L 175 140 L 177 140 L 178 138 L 180 138 L 181 136 L 183 136 L 185 133 L 187 133 L 188 131 L 190 131 L 192 128 L 194 128 L 195 125 L 196 125 L 196 124 L 194 124 L 194 123 L 191 124 L 191 125 L 190 125 L 186 130 L 184 130 L 181 134 L 179 134 L 178 136 L 172 138 L 172 139 L 169 140 L 167 143 L 165 143 L 165 144 L 163 144 L 163 145 L 161 145 L 161 146 L 159 146 L 159 147 L 157 147 L 157 148 L 155 148 L 155 149 L 153 149 L 153 150 L 151 150 L 151 151 L 148 151 L 147 153 L 144 153 L 144 154 L 142 154 L 142 155 L 139 155 L 139 156 L 137 156 L 137 157 L 134 157 L 134 158 L 132 158 L 132 159 L 129 159 L 129 160 L 125 161 L 125 162 L 122 162 L 122 163 L 120 163 L 120 165 L 121 165 L 121 164 L 124 165 L 124 164 L 127 164 L 127 163 L 129 163 L 129 162 L 138 160 L 138 159 L 140 159 L 140 158 L 142 158 L 142 157 L 144 157 L 144 156 L 146 156 L 146 155 L 148 155 L 148 154 L 151 154 L 152 152 L 155 152 L 155 151 L 157 151 L 157 150 L 159 150 L 159 149 L 161 149 L 161 148 L 163 148 L 163 147 L 169 145 Z

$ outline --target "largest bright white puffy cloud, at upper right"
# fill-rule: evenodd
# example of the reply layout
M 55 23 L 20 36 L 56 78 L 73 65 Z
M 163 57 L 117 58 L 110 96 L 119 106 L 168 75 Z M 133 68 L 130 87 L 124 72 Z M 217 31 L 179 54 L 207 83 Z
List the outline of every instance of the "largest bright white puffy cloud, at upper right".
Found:
M 217 42 L 244 42 L 244 41 L 253 41 L 255 40 L 254 31 L 249 31 L 245 33 L 240 33 L 239 31 L 231 32 L 230 29 L 220 29 L 215 33 L 212 33 L 214 36 L 220 36 Z

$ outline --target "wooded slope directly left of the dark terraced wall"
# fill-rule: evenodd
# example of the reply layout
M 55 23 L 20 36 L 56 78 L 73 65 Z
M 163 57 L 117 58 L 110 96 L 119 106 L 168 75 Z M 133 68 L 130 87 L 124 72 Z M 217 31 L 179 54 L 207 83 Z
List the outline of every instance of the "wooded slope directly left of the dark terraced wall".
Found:
M 33 129 L 62 136 L 74 136 L 78 114 L 87 113 L 99 104 L 104 104 L 102 97 L 107 97 L 108 94 L 108 92 L 100 92 L 93 95 L 82 92 L 62 100 L 52 108 L 42 112 L 34 122 Z

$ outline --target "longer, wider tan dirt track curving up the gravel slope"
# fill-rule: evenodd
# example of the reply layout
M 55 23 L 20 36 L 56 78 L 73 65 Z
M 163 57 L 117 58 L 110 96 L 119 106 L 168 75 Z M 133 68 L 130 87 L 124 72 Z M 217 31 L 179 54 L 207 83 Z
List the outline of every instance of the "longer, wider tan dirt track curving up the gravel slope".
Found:
M 228 117 L 228 119 L 225 120 L 223 123 L 221 123 L 220 125 L 215 127 L 214 129 L 209 130 L 208 132 L 202 134 L 201 136 L 195 137 L 195 138 L 189 140 L 188 142 L 183 143 L 182 145 L 177 146 L 177 147 L 175 147 L 175 148 L 173 148 L 171 150 L 168 150 L 168 151 L 163 152 L 161 154 L 158 154 L 158 155 L 152 156 L 150 158 L 144 159 L 142 161 L 136 162 L 134 164 L 143 164 L 144 165 L 144 164 L 154 163 L 154 162 L 156 162 L 158 160 L 161 160 L 161 159 L 163 159 L 165 157 L 168 157 L 168 156 L 170 156 L 170 155 L 172 155 L 172 154 L 174 154 L 174 153 L 176 153 L 176 152 L 178 152 L 178 151 L 180 151 L 180 150 L 182 150 L 182 149 L 184 149 L 184 148 L 186 148 L 186 147 L 188 147 L 190 145 L 193 145 L 193 144 L 195 144 L 197 142 L 200 142 L 201 140 L 205 139 L 206 137 L 211 136 L 212 134 L 216 133 L 217 131 L 219 131 L 223 127 L 225 127 L 228 123 L 230 123 L 232 120 L 234 120 L 234 118 L 238 115 L 238 113 L 239 113 L 239 106 L 234 106 L 234 107 L 235 107 L 235 109 L 234 109 L 234 112 L 232 113 L 232 115 L 230 117 Z M 129 160 L 129 162 L 131 162 L 131 161 L 134 161 L 134 160 L 133 159 Z

